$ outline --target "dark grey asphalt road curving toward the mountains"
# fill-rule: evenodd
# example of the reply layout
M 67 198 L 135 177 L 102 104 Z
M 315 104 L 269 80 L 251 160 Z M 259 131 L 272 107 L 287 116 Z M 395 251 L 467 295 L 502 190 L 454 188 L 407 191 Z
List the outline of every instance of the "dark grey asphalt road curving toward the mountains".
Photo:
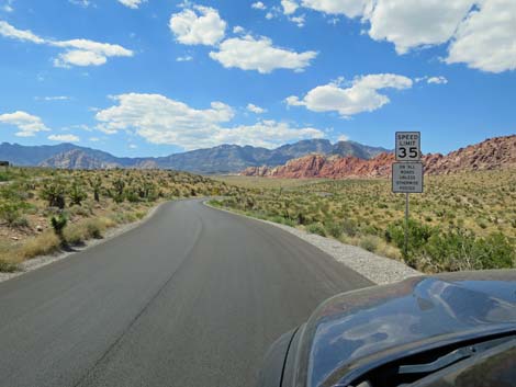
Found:
M 0 284 L 0 386 L 253 386 L 281 333 L 369 284 L 281 229 L 168 203 Z

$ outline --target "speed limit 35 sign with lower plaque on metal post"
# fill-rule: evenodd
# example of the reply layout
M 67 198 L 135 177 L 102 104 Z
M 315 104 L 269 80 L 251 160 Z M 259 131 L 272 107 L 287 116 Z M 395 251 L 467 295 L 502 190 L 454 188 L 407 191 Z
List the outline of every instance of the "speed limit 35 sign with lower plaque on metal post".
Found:
M 392 192 L 405 194 L 405 240 L 403 255 L 408 257 L 408 194 L 423 193 L 420 133 L 396 132 L 396 161 L 392 164 Z

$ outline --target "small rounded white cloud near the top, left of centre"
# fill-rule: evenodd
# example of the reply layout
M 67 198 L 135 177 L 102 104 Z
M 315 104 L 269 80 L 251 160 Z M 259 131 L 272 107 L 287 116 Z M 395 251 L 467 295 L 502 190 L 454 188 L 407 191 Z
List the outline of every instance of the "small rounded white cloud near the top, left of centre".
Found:
M 226 22 L 218 11 L 202 5 L 192 5 L 170 18 L 170 30 L 179 43 L 212 46 L 224 38 Z

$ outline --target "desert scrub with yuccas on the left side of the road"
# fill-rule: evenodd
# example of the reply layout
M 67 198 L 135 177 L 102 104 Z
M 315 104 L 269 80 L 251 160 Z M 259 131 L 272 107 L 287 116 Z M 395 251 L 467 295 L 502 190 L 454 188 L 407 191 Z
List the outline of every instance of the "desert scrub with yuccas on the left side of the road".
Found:
M 190 173 L 162 170 L 0 171 L 0 271 L 27 259 L 102 238 L 142 219 L 159 202 L 239 195 L 242 189 Z

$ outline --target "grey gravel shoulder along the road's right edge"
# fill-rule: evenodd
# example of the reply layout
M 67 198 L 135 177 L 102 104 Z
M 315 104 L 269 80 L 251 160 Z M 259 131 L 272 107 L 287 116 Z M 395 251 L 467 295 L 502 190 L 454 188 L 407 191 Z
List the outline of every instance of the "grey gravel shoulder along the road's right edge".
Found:
M 232 214 L 246 216 L 236 212 L 211 206 L 206 202 L 204 202 L 204 205 L 207 205 L 209 207 L 215 209 L 226 210 Z M 315 246 L 316 248 L 323 250 L 325 253 L 333 257 L 336 261 L 341 262 L 349 269 L 363 275 L 366 278 L 372 281 L 378 285 L 391 284 L 394 282 L 403 281 L 408 277 L 424 275 L 422 272 L 408 268 L 403 262 L 373 254 L 372 252 L 366 251 L 356 246 L 345 244 L 332 238 L 325 238 L 315 234 L 309 234 L 304 230 L 300 230 L 298 228 L 285 225 L 280 225 L 273 221 L 257 219 L 253 217 L 249 218 L 267 223 L 274 227 L 279 227 L 296 236 L 298 238 L 307 241 L 309 243 Z

